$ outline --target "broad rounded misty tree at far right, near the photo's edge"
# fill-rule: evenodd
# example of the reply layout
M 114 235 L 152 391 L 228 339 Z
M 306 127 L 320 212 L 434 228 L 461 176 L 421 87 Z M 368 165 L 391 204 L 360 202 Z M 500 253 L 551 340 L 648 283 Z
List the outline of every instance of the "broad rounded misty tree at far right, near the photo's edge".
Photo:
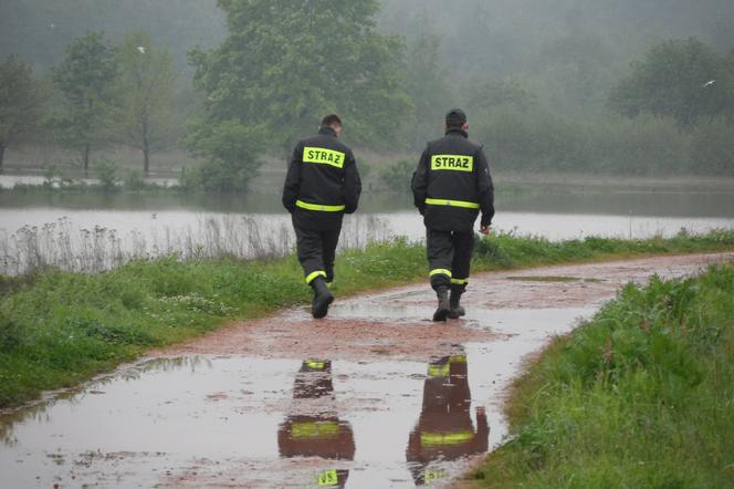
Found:
M 610 96 L 610 105 L 635 117 L 648 112 L 671 116 L 688 126 L 726 106 L 721 55 L 696 39 L 671 40 L 632 63 Z

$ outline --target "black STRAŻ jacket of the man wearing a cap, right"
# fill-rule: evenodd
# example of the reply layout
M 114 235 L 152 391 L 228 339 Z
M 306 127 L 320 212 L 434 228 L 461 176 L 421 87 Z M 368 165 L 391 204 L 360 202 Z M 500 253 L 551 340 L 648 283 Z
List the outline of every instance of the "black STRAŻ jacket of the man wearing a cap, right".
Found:
M 413 174 L 412 193 L 428 228 L 471 231 L 480 210 L 482 226 L 492 223 L 490 166 L 482 147 L 461 129 L 449 129 L 444 137 L 428 143 Z

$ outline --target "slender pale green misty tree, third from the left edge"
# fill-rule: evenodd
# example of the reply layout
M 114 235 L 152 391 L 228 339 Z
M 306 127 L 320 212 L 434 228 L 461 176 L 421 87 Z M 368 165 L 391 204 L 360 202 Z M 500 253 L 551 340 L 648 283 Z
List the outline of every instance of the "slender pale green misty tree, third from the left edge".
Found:
M 118 135 L 122 143 L 143 153 L 143 171 L 148 175 L 150 155 L 171 145 L 177 128 L 174 56 L 158 50 L 143 31 L 129 32 L 117 56 L 122 69 L 116 86 Z

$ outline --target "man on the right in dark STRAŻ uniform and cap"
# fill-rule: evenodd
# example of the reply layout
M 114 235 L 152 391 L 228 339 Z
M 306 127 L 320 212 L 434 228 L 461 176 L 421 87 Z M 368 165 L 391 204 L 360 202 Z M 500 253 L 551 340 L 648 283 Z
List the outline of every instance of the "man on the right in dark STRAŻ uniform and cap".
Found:
M 450 111 L 444 129 L 444 137 L 428 143 L 412 179 L 413 201 L 427 228 L 431 287 L 439 300 L 433 321 L 464 315 L 460 300 L 469 283 L 474 221 L 481 210 L 480 232 L 489 235 L 494 217 L 490 167 L 482 146 L 468 139 L 464 112 Z

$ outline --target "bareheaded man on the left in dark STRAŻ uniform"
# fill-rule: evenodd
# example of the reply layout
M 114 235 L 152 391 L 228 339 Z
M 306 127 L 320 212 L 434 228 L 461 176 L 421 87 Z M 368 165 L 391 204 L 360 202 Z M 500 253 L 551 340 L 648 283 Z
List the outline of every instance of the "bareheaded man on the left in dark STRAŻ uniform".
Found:
M 342 220 L 357 210 L 361 193 L 354 154 L 338 141 L 340 134 L 339 117 L 324 117 L 318 135 L 295 146 L 283 186 L 283 206 L 293 218 L 298 261 L 314 290 L 314 318 L 324 318 L 334 301 L 328 284 L 334 280 Z

